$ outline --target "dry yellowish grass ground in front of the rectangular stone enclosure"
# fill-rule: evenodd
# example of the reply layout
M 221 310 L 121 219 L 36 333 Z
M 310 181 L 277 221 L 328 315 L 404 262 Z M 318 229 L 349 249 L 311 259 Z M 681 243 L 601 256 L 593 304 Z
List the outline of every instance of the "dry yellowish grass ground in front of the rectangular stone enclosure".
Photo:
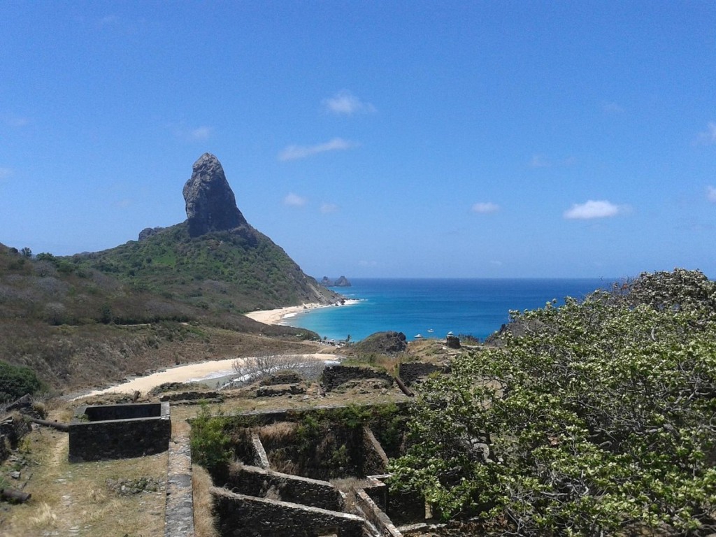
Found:
M 54 418 L 54 416 L 52 416 Z M 121 495 L 107 480 L 164 483 L 167 454 L 94 463 L 67 462 L 67 433 L 39 429 L 26 437 L 33 463 L 24 491 L 32 498 L 0 512 L 4 537 L 163 535 L 165 491 Z

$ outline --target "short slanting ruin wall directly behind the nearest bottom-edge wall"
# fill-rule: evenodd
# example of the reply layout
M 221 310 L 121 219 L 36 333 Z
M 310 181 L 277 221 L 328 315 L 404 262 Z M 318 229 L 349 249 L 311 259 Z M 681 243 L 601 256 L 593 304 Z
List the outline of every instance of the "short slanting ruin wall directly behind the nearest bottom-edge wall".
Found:
M 341 493 L 327 481 L 301 478 L 256 466 L 233 465 L 229 468 L 223 486 L 234 493 L 258 498 L 266 498 L 271 491 L 278 495 L 281 501 L 329 511 L 342 511 L 344 508 Z

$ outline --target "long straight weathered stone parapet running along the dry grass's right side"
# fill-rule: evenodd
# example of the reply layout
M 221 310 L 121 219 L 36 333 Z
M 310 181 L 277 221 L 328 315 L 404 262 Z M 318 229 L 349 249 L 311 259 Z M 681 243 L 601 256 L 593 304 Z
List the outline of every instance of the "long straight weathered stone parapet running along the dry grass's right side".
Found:
M 169 443 L 165 537 L 194 537 L 191 483 L 191 447 L 188 434 L 178 433 Z

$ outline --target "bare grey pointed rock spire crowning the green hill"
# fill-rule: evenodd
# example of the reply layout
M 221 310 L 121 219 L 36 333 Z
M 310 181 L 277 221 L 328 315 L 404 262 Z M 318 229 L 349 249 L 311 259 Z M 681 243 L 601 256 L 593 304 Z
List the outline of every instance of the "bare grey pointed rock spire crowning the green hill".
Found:
M 194 163 L 191 178 L 184 185 L 186 217 L 190 236 L 225 231 L 246 224 L 236 206 L 218 158 L 204 153 Z

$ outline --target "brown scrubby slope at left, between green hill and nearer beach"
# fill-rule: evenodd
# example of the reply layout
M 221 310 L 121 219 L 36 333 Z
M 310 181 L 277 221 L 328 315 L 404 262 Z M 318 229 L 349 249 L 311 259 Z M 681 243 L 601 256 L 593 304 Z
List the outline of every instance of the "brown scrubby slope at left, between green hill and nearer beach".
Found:
M 301 352 L 306 339 L 317 338 L 133 283 L 0 244 L 0 360 L 32 367 L 55 389 L 67 389 L 259 349 Z

